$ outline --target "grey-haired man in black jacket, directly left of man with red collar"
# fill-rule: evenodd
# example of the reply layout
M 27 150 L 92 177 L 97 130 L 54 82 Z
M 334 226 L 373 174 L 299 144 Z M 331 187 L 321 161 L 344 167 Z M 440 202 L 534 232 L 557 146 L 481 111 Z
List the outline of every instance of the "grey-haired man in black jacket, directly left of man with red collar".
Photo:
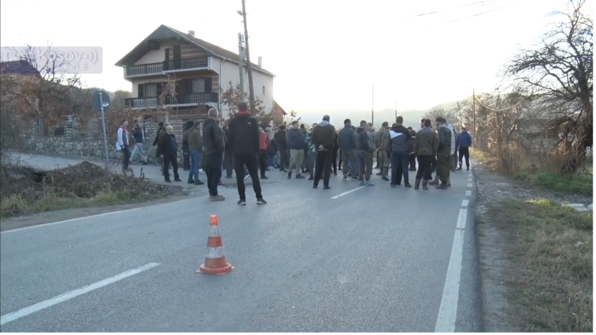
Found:
M 224 201 L 218 194 L 219 181 L 222 178 L 222 159 L 224 157 L 224 131 L 218 125 L 218 110 L 211 108 L 209 119 L 203 123 L 203 161 L 209 188 L 209 200 Z

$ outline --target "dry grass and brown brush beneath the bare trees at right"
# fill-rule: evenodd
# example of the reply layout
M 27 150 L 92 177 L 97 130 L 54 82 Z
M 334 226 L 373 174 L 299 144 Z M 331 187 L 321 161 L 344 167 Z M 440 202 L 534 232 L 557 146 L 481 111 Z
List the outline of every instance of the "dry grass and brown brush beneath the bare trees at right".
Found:
M 511 145 L 498 155 L 479 150 L 471 150 L 470 154 L 483 165 L 530 184 L 559 193 L 594 196 L 591 160 L 578 173 L 563 174 L 560 172 L 563 157 L 558 153 L 545 151 L 529 156 L 522 148 Z

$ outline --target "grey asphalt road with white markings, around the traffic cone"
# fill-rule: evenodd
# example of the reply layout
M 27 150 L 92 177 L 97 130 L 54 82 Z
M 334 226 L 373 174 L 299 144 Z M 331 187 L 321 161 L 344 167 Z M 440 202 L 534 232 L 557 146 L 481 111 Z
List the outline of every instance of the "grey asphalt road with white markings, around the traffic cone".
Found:
M 340 197 L 358 185 L 332 178 L 2 232 L 1 333 L 482 333 L 472 176 Z M 212 214 L 224 276 L 195 273 Z

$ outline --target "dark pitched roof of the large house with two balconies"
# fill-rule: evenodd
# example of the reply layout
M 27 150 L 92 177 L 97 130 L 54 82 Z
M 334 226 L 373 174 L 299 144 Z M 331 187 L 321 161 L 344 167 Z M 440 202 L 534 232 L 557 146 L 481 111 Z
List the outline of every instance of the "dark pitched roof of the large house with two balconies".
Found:
M 163 39 L 163 38 L 181 38 L 185 41 L 189 42 L 192 45 L 198 46 L 201 49 L 207 51 L 210 55 L 218 58 L 225 58 L 226 60 L 232 61 L 233 63 L 238 64 L 238 56 L 237 53 L 226 50 L 217 46 L 215 44 L 211 44 L 207 41 L 203 41 L 202 39 L 195 38 L 194 36 L 188 35 L 187 33 L 183 33 L 179 30 L 173 29 L 172 27 L 168 27 L 164 24 L 159 26 L 153 33 L 151 33 L 147 38 L 145 38 L 140 44 L 135 46 L 131 52 L 129 52 L 125 57 L 119 60 L 115 65 L 116 66 L 125 66 L 125 65 L 133 65 L 136 61 L 138 61 L 142 56 L 147 54 L 154 45 L 150 43 L 152 39 Z M 265 73 L 265 75 L 269 75 L 275 77 L 275 75 L 265 69 L 259 68 L 257 64 L 250 62 L 252 64 L 252 69 L 256 70 L 257 72 Z

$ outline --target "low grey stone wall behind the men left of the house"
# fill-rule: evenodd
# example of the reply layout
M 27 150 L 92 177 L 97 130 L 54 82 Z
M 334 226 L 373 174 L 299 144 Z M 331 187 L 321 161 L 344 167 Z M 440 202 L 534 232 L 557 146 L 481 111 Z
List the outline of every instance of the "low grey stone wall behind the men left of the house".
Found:
M 104 142 L 100 125 L 90 125 L 92 129 L 77 129 L 75 126 L 76 120 L 74 117 L 67 117 L 63 125 L 56 129 L 49 131 L 41 129 L 41 122 L 35 120 L 32 122 L 30 134 L 26 135 L 26 149 L 45 154 L 67 154 L 75 156 L 89 156 L 103 158 L 104 156 Z M 176 139 L 178 140 L 178 162 L 182 163 L 182 127 L 173 124 L 175 127 Z M 97 129 L 99 128 L 99 129 Z M 153 141 L 157 132 L 156 120 L 145 120 L 145 144 L 143 145 L 143 153 L 150 163 L 156 162 Z M 108 157 L 110 159 L 122 159 L 122 151 L 116 150 L 116 134 L 108 132 Z M 51 134 L 51 135 L 46 135 Z M 134 143 L 131 137 L 131 143 Z

